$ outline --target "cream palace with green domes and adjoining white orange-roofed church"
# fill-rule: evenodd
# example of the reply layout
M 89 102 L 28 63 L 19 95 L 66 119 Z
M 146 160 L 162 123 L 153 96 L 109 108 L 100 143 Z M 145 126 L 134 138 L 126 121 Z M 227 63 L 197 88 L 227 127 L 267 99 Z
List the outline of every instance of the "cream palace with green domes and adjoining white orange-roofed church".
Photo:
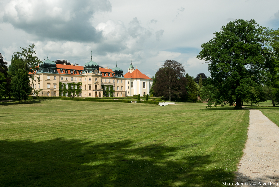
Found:
M 31 72 L 29 72 L 31 74 Z M 39 64 L 39 70 L 33 72 L 33 84 L 40 90 L 39 96 L 74 96 L 74 97 L 126 97 L 149 94 L 152 79 L 134 69 L 132 62 L 128 73 L 122 69 L 101 67 L 91 61 L 78 65 L 56 64 L 48 59 Z M 70 95 L 69 95 L 70 94 Z M 112 95 L 111 95 L 112 94 Z

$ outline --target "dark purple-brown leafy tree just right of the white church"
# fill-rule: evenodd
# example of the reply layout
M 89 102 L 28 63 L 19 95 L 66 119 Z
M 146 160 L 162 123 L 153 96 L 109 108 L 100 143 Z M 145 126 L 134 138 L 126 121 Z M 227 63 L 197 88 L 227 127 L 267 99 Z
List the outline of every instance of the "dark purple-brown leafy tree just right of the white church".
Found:
M 155 76 L 152 89 L 156 97 L 164 96 L 171 101 L 172 98 L 183 99 L 187 94 L 185 70 L 179 62 L 166 60 Z

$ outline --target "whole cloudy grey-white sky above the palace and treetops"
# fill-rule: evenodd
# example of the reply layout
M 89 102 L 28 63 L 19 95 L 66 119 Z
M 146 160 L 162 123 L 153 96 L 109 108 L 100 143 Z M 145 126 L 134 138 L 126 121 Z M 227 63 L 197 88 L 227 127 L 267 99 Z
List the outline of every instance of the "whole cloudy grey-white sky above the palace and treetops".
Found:
M 1 0 L 0 52 L 5 61 L 34 43 L 37 56 L 84 65 L 134 67 L 155 75 L 167 59 L 196 76 L 201 44 L 235 19 L 279 28 L 278 0 Z

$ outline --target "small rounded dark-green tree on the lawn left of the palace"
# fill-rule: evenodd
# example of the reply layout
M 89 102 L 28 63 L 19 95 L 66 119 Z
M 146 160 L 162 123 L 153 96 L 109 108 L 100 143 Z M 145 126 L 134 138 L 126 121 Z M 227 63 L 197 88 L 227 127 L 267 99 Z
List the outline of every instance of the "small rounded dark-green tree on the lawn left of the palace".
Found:
M 15 72 L 15 76 L 11 81 L 12 96 L 17 100 L 27 100 L 28 96 L 32 93 L 32 88 L 30 87 L 30 80 L 27 71 L 24 69 L 19 69 Z

